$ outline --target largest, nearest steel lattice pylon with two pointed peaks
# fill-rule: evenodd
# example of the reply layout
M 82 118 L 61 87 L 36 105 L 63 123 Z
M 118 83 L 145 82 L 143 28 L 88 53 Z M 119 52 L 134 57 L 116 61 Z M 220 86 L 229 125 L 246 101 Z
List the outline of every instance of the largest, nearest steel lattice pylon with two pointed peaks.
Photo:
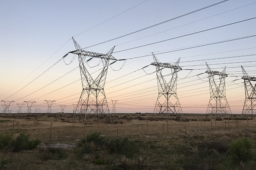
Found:
M 83 50 L 79 46 L 79 44 L 77 44 L 75 39 L 72 39 L 76 50 L 71 51 L 69 53 L 78 55 L 81 80 L 83 86 L 82 93 L 79 102 L 76 106 L 75 113 L 79 113 L 81 115 L 85 114 L 84 121 L 86 120 L 86 116 L 89 118 L 94 118 L 95 116 L 97 116 L 97 121 L 99 121 L 104 115 L 112 123 L 108 103 L 106 101 L 106 96 L 104 92 L 104 85 L 106 80 L 106 74 L 108 71 L 109 61 L 117 61 L 116 58 L 112 56 L 114 47 L 106 54 L 90 52 Z M 86 57 L 90 58 L 87 60 Z M 95 80 L 91 77 L 90 73 L 85 67 L 86 62 L 90 61 L 93 58 L 100 58 L 103 65 L 103 69 L 101 70 L 101 72 Z M 107 114 L 109 116 L 107 116 Z

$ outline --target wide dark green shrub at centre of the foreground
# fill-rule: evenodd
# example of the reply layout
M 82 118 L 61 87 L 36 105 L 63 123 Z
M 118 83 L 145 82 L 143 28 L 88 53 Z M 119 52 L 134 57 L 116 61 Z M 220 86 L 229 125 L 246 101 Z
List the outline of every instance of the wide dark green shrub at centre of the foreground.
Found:
M 130 141 L 128 138 L 116 138 L 110 140 L 108 151 L 110 154 L 117 153 L 131 158 L 139 152 L 139 147 L 137 143 Z

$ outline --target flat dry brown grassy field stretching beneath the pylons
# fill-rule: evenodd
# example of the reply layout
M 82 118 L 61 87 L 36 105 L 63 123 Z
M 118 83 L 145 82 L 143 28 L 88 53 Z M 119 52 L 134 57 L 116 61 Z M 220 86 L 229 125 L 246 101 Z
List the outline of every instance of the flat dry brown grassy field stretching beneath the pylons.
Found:
M 205 114 L 184 114 L 184 116 L 186 121 L 176 115 L 169 117 L 167 121 L 161 115 L 155 117 L 152 114 L 112 114 L 113 124 L 105 116 L 99 123 L 93 119 L 87 119 L 84 124 L 81 115 L 76 115 L 73 122 L 73 114 L 0 114 L 0 133 L 8 132 L 16 137 L 25 132 L 31 139 L 37 138 L 46 144 L 55 143 L 60 148 L 66 149 L 67 156 L 60 160 L 42 161 L 39 158 L 32 158 L 33 155 L 40 154 L 38 151 L 23 151 L 15 154 L 1 152 L 0 155 L 11 157 L 10 163 L 6 166 L 7 169 L 63 169 L 64 165 L 68 169 L 84 169 L 86 166 L 89 169 L 109 169 L 108 164 L 99 166 L 90 160 L 77 160 L 77 156 L 74 156 L 76 151 L 73 147 L 80 139 L 99 132 L 106 138 L 128 138 L 132 141 L 153 142 L 154 146 L 168 146 L 170 155 L 165 156 L 158 155 L 163 152 L 161 151 L 163 148 L 158 151 L 149 148 L 148 152 L 141 150 L 139 155 L 143 157 L 143 166 L 137 169 L 189 169 L 184 166 L 185 158 L 180 156 L 180 160 L 183 161 L 180 163 L 175 157 L 179 154 L 185 157 L 187 147 L 193 150 L 198 148 L 201 142 L 206 141 L 225 141 L 229 144 L 242 137 L 248 137 L 253 141 L 256 139 L 256 119 L 244 117 L 241 120 L 241 115 L 234 115 L 235 120 L 215 120 L 212 115 Z M 179 154 L 173 151 L 173 148 L 178 145 L 181 147 Z M 152 153 L 153 151 L 155 153 Z M 170 158 L 175 164 L 170 162 Z M 70 163 L 72 161 L 78 161 L 78 163 L 73 165 Z M 204 168 L 198 169 L 216 169 L 205 164 Z M 238 169 L 239 167 L 241 165 L 238 165 Z M 128 166 L 124 169 L 132 168 Z

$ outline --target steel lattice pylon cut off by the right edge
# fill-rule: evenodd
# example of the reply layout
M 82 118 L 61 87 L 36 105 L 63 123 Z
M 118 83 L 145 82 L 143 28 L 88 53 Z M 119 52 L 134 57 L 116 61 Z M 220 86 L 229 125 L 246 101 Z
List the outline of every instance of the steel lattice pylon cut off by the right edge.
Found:
M 241 67 L 245 89 L 245 101 L 242 115 L 249 114 L 253 119 L 256 114 L 256 77 L 249 76 L 243 66 Z

